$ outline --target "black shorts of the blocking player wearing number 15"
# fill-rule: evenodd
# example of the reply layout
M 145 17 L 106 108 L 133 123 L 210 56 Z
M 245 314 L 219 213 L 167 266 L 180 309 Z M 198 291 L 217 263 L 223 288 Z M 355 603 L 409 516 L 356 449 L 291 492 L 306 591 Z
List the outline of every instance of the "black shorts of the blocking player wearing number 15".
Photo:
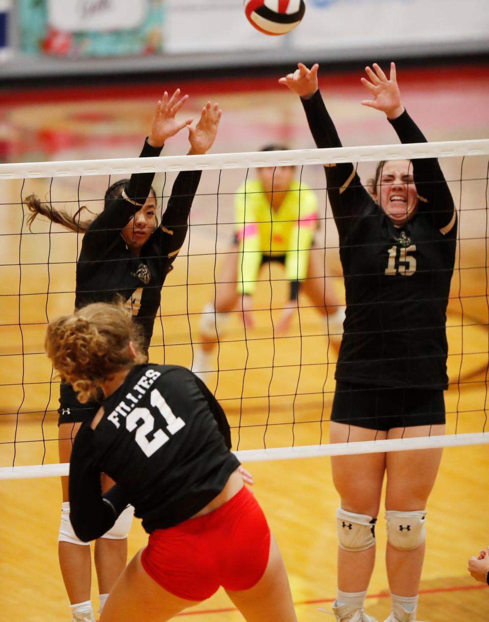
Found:
M 331 420 L 370 430 L 444 424 L 443 389 L 337 381 Z

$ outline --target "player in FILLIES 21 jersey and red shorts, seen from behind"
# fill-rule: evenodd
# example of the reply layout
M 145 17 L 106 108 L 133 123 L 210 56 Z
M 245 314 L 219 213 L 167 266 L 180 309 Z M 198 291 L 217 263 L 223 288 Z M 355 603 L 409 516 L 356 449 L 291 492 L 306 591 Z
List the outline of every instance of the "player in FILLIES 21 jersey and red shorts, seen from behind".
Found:
M 281 554 L 243 486 L 223 410 L 188 369 L 144 363 L 137 328 L 123 304 L 95 303 L 51 322 L 45 341 L 80 402 L 105 396 L 73 443 L 75 532 L 100 537 L 130 503 L 150 534 L 100 622 L 169 620 L 220 585 L 246 620 L 296 621 Z M 101 473 L 116 482 L 106 493 Z

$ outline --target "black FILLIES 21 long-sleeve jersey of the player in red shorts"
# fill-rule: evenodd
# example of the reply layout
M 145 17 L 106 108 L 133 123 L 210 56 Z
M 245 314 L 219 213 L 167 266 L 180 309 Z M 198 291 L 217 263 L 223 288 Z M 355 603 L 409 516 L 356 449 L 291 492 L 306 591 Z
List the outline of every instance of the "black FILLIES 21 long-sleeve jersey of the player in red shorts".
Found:
M 103 409 L 95 429 L 91 419 L 81 426 L 70 460 L 70 518 L 84 541 L 104 534 L 127 503 L 148 533 L 179 524 L 240 465 L 223 409 L 189 369 L 136 365 Z M 109 495 L 101 472 L 116 481 Z

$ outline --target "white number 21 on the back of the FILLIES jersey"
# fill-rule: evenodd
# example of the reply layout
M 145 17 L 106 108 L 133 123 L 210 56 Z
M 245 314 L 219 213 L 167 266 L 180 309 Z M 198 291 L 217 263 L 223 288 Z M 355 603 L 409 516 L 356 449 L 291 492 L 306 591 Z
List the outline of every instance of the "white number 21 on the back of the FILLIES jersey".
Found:
M 150 399 L 151 406 L 154 406 L 164 418 L 167 432 L 170 435 L 173 436 L 184 427 L 185 421 L 180 417 L 175 417 L 158 389 L 151 391 Z M 129 432 L 136 429 L 136 443 L 148 458 L 169 440 L 169 436 L 160 428 L 154 432 L 152 440 L 147 439 L 154 430 L 154 417 L 147 408 L 135 408 L 134 411 L 130 412 L 126 417 L 126 428 Z

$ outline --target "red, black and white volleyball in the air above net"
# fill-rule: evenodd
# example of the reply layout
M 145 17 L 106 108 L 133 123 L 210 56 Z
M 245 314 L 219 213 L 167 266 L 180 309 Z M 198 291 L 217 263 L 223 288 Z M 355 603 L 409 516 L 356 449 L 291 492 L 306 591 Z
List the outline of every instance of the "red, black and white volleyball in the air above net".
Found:
M 245 0 L 249 23 L 266 35 L 284 35 L 299 26 L 304 0 Z

